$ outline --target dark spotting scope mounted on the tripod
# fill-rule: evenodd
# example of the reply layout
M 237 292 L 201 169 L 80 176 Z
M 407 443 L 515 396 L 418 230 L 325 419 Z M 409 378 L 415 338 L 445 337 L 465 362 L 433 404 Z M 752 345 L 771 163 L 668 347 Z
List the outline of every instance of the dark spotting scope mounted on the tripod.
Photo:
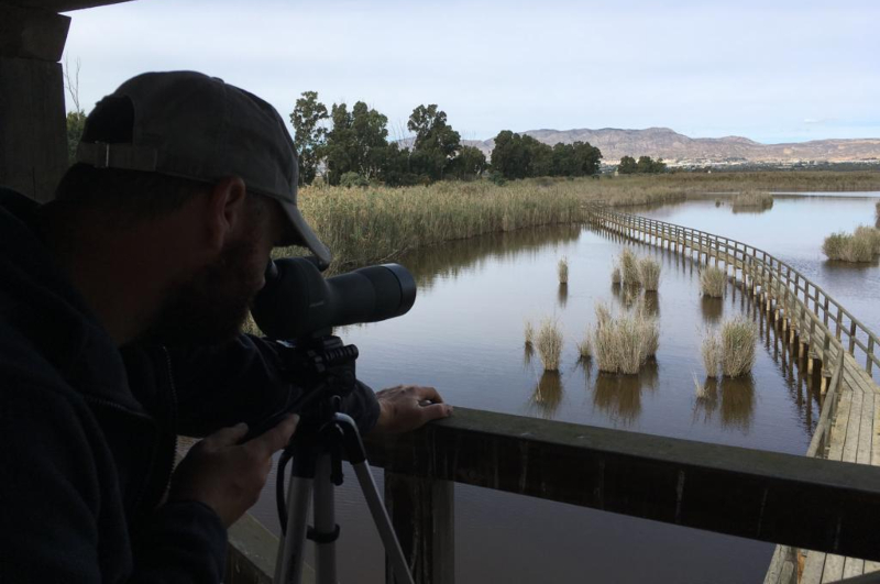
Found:
M 274 340 L 329 334 L 333 327 L 405 315 L 416 301 L 416 280 L 399 264 L 367 266 L 324 278 L 311 257 L 270 261 L 266 284 L 251 313 Z

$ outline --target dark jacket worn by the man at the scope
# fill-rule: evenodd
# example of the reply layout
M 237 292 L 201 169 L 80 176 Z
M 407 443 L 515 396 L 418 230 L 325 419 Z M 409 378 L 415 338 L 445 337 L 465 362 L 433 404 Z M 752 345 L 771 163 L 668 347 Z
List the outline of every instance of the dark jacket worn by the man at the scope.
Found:
M 301 390 L 279 345 L 120 351 L 0 189 L 0 582 L 219 582 L 227 533 L 206 505 L 162 505 L 177 434 L 256 422 Z M 344 409 L 369 431 L 363 385 Z

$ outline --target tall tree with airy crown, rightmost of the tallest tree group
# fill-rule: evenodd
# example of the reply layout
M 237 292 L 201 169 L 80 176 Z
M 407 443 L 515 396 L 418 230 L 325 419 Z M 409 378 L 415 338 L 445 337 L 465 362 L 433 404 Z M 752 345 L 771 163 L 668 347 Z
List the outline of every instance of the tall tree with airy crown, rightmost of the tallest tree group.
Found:
M 437 103 L 419 106 L 413 110 L 406 124 L 415 132 L 410 166 L 431 180 L 443 178 L 455 153 L 461 150 L 461 135 L 447 123 L 447 114 Z

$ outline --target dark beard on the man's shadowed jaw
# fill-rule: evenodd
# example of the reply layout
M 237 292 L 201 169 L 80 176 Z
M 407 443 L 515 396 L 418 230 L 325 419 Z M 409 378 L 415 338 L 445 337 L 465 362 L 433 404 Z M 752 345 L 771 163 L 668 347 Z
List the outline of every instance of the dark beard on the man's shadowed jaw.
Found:
M 254 243 L 240 241 L 165 298 L 143 340 L 167 346 L 213 345 L 241 332 L 256 294 L 249 258 Z

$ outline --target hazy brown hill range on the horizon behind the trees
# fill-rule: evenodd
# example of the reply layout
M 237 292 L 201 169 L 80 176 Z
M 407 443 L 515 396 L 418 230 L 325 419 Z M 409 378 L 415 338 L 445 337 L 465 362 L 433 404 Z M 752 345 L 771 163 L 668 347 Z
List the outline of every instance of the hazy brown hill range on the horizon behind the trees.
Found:
M 689 137 L 669 128 L 647 130 L 528 130 L 528 134 L 546 144 L 590 142 L 602 151 L 606 163 L 623 156 L 650 156 L 668 162 L 880 162 L 880 139 L 814 140 L 791 144 L 761 144 L 740 136 Z M 464 140 L 464 144 L 479 147 L 488 157 L 494 140 Z

